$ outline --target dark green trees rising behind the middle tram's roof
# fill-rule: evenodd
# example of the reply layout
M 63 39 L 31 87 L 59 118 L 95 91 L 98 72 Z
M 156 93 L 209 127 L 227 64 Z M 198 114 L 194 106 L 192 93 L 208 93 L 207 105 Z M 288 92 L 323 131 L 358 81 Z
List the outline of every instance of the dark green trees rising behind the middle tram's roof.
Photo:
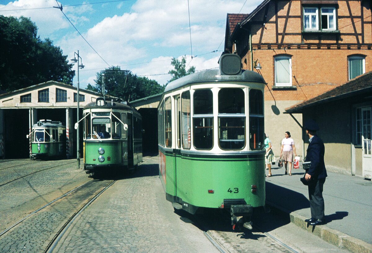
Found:
M 138 77 L 129 70 L 121 70 L 119 66 L 109 67 L 96 73 L 96 84 L 88 85 L 87 89 L 102 92 L 102 74 L 105 74 L 105 94 L 132 101 L 155 95 L 164 91 L 164 86 L 147 77 Z

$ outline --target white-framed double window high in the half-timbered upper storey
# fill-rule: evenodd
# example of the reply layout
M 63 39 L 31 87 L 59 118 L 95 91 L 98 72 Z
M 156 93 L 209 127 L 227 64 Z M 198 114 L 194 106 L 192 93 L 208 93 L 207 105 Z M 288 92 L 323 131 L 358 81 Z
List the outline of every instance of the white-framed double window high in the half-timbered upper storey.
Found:
M 319 9 L 321 25 L 319 26 Z M 304 7 L 304 30 L 336 30 L 336 8 Z

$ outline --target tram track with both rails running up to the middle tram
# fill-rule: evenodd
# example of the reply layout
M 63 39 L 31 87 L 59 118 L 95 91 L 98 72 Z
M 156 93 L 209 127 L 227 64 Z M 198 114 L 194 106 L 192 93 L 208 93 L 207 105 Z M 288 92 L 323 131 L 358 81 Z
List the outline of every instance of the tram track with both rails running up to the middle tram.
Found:
M 92 179 L 54 199 L 1 232 L 0 247 L 10 252 L 23 247 L 27 252 L 52 252 L 84 209 L 116 181 Z

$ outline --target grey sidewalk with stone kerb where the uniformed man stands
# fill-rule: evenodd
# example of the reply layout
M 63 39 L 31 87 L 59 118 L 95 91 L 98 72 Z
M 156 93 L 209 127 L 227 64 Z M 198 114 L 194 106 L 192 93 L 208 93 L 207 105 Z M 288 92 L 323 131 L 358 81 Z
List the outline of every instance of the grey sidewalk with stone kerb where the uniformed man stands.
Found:
M 327 224 L 309 226 L 311 217 L 308 188 L 300 178 L 304 170 L 292 169 L 284 175 L 284 166 L 272 167 L 266 177 L 266 203 L 290 215 L 291 222 L 328 243 L 351 252 L 372 253 L 372 182 L 361 177 L 327 172 L 323 197 Z M 266 175 L 268 170 L 265 170 Z

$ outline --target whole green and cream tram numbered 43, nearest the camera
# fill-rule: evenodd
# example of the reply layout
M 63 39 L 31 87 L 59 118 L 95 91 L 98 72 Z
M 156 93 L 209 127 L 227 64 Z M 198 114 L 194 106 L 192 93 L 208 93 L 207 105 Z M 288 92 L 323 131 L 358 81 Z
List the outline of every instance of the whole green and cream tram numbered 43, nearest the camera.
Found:
M 218 70 L 169 83 L 158 106 L 159 177 L 175 209 L 223 208 L 251 229 L 265 204 L 262 76 L 224 54 Z

